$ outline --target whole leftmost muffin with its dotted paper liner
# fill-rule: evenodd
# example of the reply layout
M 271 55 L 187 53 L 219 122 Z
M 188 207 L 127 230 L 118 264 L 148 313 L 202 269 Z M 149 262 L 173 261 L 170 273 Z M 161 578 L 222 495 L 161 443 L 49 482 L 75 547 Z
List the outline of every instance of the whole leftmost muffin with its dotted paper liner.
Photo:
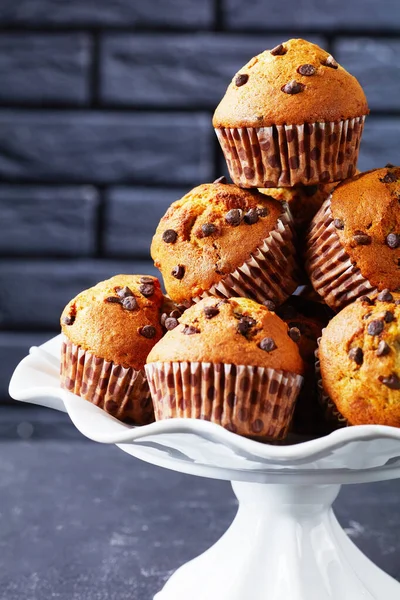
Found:
M 144 364 L 163 335 L 163 302 L 147 275 L 116 275 L 78 294 L 61 316 L 61 386 L 121 421 L 154 421 Z

